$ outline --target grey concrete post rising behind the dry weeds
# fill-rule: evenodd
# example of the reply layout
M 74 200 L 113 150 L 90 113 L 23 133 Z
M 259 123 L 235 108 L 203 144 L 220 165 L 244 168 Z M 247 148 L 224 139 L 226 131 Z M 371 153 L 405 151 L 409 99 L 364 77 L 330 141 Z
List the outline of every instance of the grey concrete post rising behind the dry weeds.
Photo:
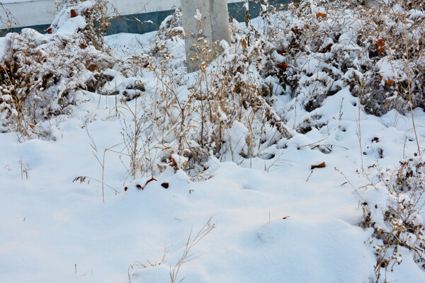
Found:
M 198 17 L 196 10 L 200 12 Z M 197 40 L 203 37 L 212 43 L 219 40 L 229 42 L 229 15 L 227 11 L 227 0 L 181 0 L 181 13 L 183 29 L 186 34 L 186 62 L 188 73 L 196 71 L 199 60 L 191 61 L 196 53 Z

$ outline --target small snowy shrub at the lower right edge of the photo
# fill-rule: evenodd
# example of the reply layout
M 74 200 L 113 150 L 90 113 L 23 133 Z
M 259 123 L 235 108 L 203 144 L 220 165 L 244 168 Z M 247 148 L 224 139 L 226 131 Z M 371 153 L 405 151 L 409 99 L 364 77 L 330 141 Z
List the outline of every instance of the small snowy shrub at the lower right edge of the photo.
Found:
M 425 207 L 425 162 L 412 157 L 400 161 L 395 170 L 382 172 L 378 168 L 378 180 L 374 187 L 388 196 L 387 204 L 367 197 L 362 203 L 361 221 L 361 226 L 373 229 L 376 282 L 380 282 L 382 270 L 392 271 L 401 263 L 403 250 L 412 253 L 425 270 L 425 221 L 421 216 Z

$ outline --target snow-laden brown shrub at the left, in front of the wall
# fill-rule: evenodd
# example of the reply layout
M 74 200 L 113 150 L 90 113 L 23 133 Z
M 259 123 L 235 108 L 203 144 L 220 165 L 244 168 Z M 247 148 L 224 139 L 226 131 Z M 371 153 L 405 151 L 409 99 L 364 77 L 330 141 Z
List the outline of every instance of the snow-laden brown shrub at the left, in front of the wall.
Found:
M 47 134 L 38 122 L 69 112 L 76 91 L 96 91 L 107 86 L 117 70 L 120 76 L 121 71 L 129 72 L 93 30 L 96 9 L 96 3 L 84 1 L 62 9 L 47 34 L 27 28 L 0 37 L 2 132 Z

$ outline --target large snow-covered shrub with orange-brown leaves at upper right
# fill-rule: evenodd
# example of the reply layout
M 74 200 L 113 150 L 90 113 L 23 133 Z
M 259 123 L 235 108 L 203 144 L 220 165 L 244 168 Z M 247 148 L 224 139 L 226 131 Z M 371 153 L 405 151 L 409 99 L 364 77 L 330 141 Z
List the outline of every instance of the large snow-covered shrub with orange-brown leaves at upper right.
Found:
M 285 25 L 271 40 L 280 55 L 272 74 L 308 111 L 350 86 L 369 113 L 404 112 L 408 83 L 413 107 L 423 108 L 425 12 L 419 5 L 409 8 L 415 3 L 407 1 L 407 25 L 401 0 L 306 0 L 290 6 L 290 19 L 277 15 Z

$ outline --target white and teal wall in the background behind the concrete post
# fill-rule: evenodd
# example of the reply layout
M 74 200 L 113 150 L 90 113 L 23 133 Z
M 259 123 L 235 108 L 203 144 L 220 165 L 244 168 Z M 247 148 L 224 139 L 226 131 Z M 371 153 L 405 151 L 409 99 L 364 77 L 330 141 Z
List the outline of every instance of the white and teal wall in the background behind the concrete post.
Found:
M 112 33 L 147 33 L 157 29 L 157 26 L 180 6 L 180 0 L 108 0 L 122 15 L 113 21 Z M 287 4 L 290 0 L 277 0 L 277 3 Z M 271 1 L 273 2 L 273 1 Z M 238 21 L 243 21 L 243 1 L 227 0 L 229 14 Z M 56 7 L 54 0 L 0 0 L 0 30 L 18 32 L 22 28 L 46 30 L 55 18 Z M 259 11 L 259 9 L 253 10 Z M 140 21 L 152 21 L 154 24 L 141 25 L 132 18 Z

